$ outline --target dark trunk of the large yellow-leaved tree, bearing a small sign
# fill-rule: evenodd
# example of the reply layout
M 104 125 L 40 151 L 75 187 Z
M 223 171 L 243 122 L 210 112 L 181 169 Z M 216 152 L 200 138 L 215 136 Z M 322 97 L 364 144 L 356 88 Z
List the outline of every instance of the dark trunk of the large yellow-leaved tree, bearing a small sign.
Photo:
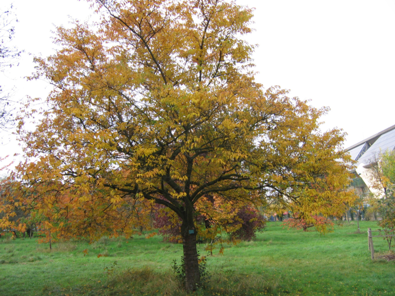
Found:
M 191 219 L 189 219 L 191 220 Z M 196 229 L 190 221 L 184 221 L 181 226 L 183 237 L 184 264 L 185 264 L 185 287 L 187 291 L 195 291 L 200 282 L 199 263 L 196 248 Z

